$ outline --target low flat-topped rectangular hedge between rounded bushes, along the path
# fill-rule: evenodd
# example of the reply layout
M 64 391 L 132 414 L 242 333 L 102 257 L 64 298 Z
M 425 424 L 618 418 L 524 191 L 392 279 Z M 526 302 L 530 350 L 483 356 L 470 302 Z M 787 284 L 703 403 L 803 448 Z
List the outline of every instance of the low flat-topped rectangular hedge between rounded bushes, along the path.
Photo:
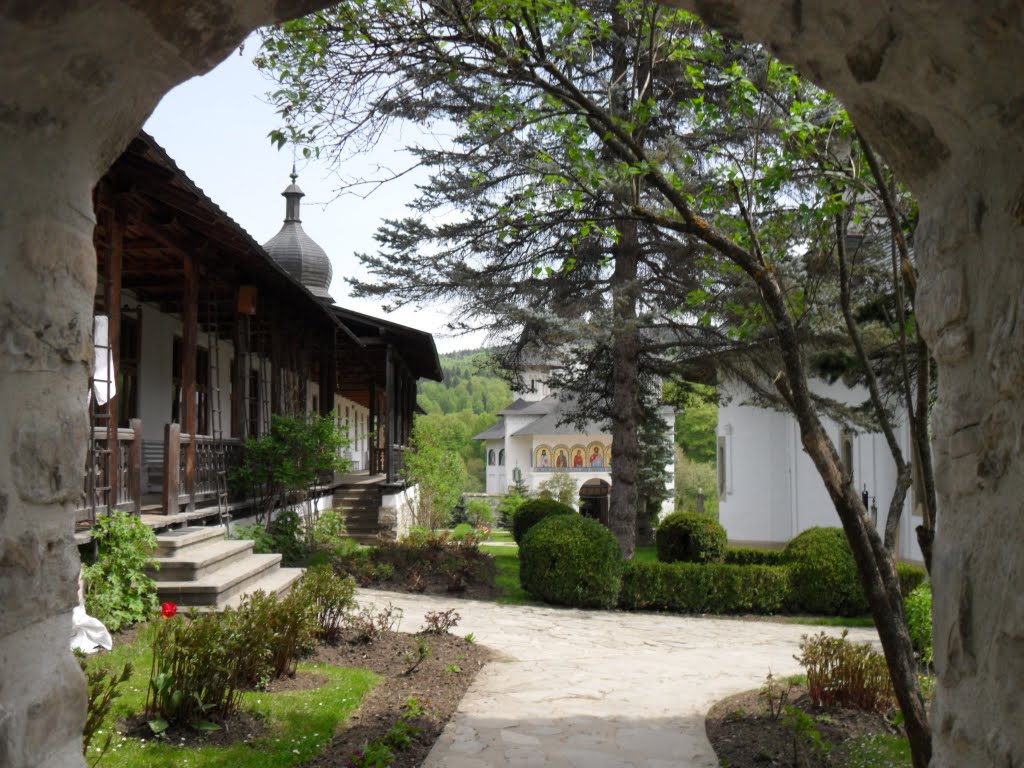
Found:
M 785 565 L 626 563 L 618 607 L 676 613 L 778 613 L 792 607 Z

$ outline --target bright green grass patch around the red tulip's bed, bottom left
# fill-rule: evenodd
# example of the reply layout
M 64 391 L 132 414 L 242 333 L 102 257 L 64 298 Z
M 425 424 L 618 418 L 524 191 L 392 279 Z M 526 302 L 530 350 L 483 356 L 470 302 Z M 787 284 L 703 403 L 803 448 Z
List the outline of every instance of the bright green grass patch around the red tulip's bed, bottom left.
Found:
M 125 662 L 134 667 L 134 674 L 121 686 L 122 695 L 101 726 L 103 732 L 114 728 L 119 720 L 142 712 L 151 660 L 148 633 L 142 633 L 129 645 L 89 659 L 90 667 L 120 670 Z M 299 669 L 315 671 L 328 682 L 315 690 L 243 694 L 242 708 L 258 714 L 266 723 L 267 731 L 258 738 L 230 746 L 179 748 L 167 739 L 115 735 L 100 765 L 104 768 L 285 768 L 312 760 L 379 678 L 368 670 L 327 665 L 299 665 Z M 102 733 L 93 737 L 90 760 L 103 740 Z

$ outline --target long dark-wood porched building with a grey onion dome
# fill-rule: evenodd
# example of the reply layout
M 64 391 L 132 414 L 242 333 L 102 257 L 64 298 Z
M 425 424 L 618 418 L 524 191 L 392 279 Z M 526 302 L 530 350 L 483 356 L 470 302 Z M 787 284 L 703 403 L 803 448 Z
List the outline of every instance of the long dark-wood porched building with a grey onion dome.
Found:
M 441 377 L 433 339 L 333 305 L 295 180 L 265 247 L 145 133 L 96 186 L 83 526 L 112 506 L 185 517 L 244 506 L 227 499 L 225 470 L 274 414 L 334 413 L 358 481 L 402 485 L 417 380 Z

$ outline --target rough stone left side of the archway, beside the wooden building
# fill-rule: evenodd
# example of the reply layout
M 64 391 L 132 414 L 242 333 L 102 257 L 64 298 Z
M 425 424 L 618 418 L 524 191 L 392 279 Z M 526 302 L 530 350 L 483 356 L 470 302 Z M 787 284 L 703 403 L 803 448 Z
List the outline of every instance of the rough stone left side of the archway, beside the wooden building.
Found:
M 314 5 L 0 4 L 0 766 L 84 765 L 85 684 L 69 640 L 96 284 L 92 187 L 167 90 L 258 25 Z

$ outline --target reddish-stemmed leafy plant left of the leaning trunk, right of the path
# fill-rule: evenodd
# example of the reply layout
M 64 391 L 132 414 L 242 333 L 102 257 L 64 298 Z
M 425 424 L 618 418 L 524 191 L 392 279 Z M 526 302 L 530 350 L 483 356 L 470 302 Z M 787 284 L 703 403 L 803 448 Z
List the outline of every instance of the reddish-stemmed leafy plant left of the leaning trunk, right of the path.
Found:
M 807 693 L 815 707 L 852 707 L 888 712 L 895 700 L 885 656 L 867 643 L 824 632 L 804 635 L 797 660 L 807 671 Z

